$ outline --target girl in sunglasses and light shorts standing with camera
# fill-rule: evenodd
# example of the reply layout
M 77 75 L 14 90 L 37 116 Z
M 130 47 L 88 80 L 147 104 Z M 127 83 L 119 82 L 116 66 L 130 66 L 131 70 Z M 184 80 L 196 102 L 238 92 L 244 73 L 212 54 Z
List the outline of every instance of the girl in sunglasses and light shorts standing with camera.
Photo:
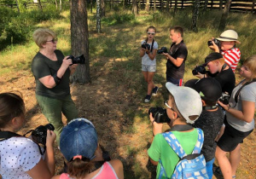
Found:
M 148 37 L 142 41 L 142 48 L 140 49 L 140 57 L 142 57 L 142 71 L 145 81 L 148 83 L 148 92 L 144 98 L 144 102 L 149 102 L 152 95 L 156 95 L 158 87 L 154 85 L 153 78 L 156 71 L 155 55 L 158 49 L 158 43 L 154 41 L 156 28 L 148 26 Z

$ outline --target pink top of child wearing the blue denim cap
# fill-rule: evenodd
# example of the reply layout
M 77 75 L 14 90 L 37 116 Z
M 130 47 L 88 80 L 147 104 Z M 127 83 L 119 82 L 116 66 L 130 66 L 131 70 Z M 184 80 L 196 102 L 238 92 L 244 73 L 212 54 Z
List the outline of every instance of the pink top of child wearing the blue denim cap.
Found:
M 93 176 L 91 179 L 105 179 L 105 178 L 118 179 L 118 176 L 113 170 L 112 165 L 110 165 L 108 162 L 105 162 L 102 165 L 101 170 L 96 174 L 96 176 Z M 60 179 L 73 179 L 73 178 L 70 177 L 67 173 L 62 173 L 60 176 Z

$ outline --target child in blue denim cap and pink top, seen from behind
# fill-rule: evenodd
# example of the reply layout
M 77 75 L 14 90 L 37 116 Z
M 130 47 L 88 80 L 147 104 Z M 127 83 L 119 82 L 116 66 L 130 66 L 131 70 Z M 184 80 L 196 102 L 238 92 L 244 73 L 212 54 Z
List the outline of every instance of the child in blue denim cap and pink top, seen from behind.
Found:
M 53 179 L 124 178 L 122 162 L 104 159 L 96 129 L 86 118 L 73 119 L 63 128 L 60 147 L 67 160 L 67 173 Z

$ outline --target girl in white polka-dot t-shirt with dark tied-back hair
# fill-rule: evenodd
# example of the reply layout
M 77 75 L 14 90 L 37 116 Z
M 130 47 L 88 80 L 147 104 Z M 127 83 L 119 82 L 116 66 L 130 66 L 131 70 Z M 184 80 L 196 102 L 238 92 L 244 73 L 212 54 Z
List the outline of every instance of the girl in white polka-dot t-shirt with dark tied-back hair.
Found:
M 0 175 L 45 179 L 55 174 L 55 132 L 47 130 L 44 159 L 34 141 L 16 134 L 26 123 L 25 104 L 14 93 L 0 94 Z

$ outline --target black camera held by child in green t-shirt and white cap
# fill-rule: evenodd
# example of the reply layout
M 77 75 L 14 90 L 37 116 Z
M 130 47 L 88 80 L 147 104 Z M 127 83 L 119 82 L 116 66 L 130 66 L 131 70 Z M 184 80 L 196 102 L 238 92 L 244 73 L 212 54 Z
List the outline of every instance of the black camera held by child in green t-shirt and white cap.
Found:
M 168 118 L 166 109 L 162 107 L 150 107 L 148 114 L 152 113 L 154 121 L 157 123 L 170 123 L 171 119 Z

